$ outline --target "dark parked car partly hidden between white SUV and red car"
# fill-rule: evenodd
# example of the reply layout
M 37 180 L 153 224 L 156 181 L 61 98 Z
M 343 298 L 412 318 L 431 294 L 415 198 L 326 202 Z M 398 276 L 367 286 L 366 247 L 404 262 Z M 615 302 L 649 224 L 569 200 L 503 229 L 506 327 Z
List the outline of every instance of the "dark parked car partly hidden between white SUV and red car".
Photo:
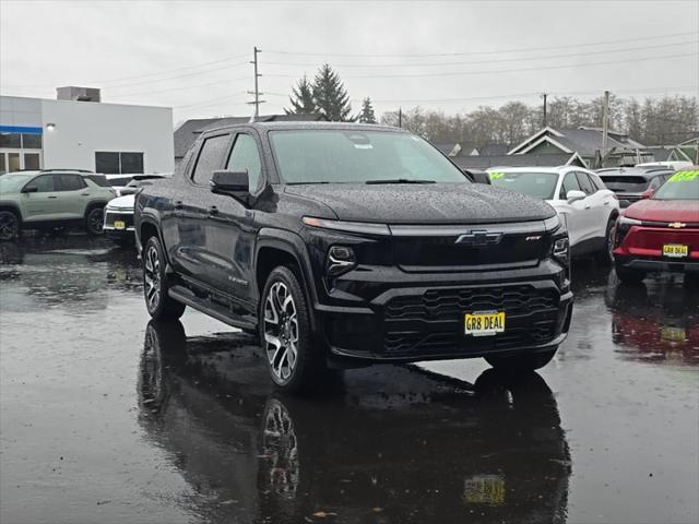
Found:
M 616 193 L 621 207 L 651 198 L 674 172 L 657 167 L 615 167 L 596 171 L 604 184 Z

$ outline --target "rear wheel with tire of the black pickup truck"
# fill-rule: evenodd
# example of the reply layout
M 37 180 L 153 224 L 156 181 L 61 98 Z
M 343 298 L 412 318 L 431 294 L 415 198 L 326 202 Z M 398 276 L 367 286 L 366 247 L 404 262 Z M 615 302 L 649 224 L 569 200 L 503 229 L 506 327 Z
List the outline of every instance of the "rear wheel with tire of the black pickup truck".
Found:
M 155 320 L 177 320 L 186 306 L 168 294 L 163 247 L 156 236 L 149 238 L 143 249 L 143 297 L 149 314 Z

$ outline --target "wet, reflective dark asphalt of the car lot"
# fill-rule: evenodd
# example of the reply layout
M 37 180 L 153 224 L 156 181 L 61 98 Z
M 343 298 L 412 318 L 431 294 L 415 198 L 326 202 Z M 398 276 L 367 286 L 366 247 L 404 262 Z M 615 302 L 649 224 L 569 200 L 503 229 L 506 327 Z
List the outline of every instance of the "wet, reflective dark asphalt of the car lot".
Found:
M 0 245 L 0 522 L 699 522 L 699 289 L 573 281 L 538 374 L 377 366 L 294 398 L 250 336 L 150 322 L 133 250 Z

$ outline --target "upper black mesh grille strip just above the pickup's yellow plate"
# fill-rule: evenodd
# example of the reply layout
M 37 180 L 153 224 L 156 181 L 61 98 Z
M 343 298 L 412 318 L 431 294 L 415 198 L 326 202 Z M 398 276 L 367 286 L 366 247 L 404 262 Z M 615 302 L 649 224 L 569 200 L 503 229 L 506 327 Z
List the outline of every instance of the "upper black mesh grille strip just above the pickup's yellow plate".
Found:
M 428 289 L 423 295 L 396 297 L 386 306 L 387 319 L 455 320 L 470 311 L 505 311 L 508 317 L 558 307 L 558 293 L 533 286 Z

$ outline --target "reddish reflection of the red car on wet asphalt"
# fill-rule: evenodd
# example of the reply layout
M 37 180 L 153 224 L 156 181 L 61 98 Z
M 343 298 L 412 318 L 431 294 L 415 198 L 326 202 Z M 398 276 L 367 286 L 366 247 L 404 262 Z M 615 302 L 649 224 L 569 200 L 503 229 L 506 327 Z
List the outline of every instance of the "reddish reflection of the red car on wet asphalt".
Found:
M 618 283 L 606 294 L 612 341 L 624 358 L 699 365 L 699 285 L 679 275 Z

